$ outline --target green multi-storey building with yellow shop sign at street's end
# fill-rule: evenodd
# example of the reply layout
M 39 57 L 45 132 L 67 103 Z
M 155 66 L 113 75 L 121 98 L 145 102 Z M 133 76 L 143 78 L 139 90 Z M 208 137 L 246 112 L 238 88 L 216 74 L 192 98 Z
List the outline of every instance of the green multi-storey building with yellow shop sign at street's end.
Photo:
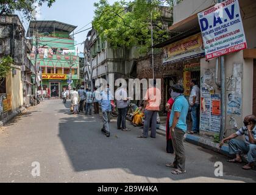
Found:
M 30 59 L 37 64 L 37 72 L 42 73 L 38 91 L 42 87 L 49 97 L 60 97 L 64 88 L 71 90 L 79 82 L 79 56 L 70 35 L 74 29 L 76 26 L 59 21 L 29 24 L 27 37 L 32 37 L 33 43 Z

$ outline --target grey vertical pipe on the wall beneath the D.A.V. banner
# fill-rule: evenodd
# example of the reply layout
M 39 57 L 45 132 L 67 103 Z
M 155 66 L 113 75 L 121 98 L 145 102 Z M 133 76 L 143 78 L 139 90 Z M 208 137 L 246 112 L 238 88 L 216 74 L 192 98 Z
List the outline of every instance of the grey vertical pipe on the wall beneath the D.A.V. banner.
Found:
M 218 0 L 219 3 L 223 0 Z M 223 140 L 225 132 L 225 117 L 226 117 L 226 75 L 225 75 L 225 59 L 221 56 L 221 131 L 219 133 L 219 140 Z

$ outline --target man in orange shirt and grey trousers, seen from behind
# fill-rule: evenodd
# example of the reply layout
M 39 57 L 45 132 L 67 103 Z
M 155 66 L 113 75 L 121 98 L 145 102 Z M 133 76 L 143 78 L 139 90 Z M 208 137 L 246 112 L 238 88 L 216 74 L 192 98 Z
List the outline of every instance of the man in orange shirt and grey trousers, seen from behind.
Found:
M 149 126 L 151 124 L 151 138 L 157 136 L 157 113 L 160 110 L 161 91 L 156 87 L 154 80 L 154 87 L 149 83 L 149 89 L 145 96 L 146 108 L 144 111 L 145 120 L 143 127 L 143 134 L 137 138 L 148 138 Z

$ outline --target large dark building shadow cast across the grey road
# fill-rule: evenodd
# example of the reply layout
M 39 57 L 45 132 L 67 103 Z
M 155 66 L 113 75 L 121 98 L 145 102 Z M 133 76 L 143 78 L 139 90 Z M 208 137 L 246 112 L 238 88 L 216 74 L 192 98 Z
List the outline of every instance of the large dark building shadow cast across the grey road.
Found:
M 66 110 L 63 109 L 60 112 L 70 114 L 68 108 L 69 104 L 66 104 Z M 235 172 L 234 165 L 224 163 L 225 167 L 229 166 L 224 169 L 226 176 L 216 178 L 214 164 L 216 161 L 224 161 L 225 157 L 221 156 L 221 159 L 218 159 L 216 156 L 220 155 L 215 152 L 196 150 L 197 154 L 187 154 L 187 159 L 189 159 L 187 160 L 187 174 L 174 176 L 171 174 L 171 169 L 165 167 L 165 163 L 174 159 L 172 155 L 165 152 L 165 138 L 158 135 L 157 139 L 140 140 L 136 138 L 141 133 L 140 129 L 130 127 L 131 132 L 121 132 L 116 129 L 115 122 L 111 122 L 111 137 L 107 138 L 101 133 L 101 120 L 99 115 L 66 116 L 60 119 L 59 137 L 74 171 L 120 168 L 136 176 L 172 180 L 195 177 L 221 180 L 230 179 L 229 176 L 243 177 L 244 174 L 247 175 L 247 172 L 243 172 L 243 170 Z M 187 143 L 185 144 L 187 145 Z M 254 174 L 255 172 L 251 172 L 247 177 L 256 180 Z M 232 177 L 232 180 L 234 178 Z

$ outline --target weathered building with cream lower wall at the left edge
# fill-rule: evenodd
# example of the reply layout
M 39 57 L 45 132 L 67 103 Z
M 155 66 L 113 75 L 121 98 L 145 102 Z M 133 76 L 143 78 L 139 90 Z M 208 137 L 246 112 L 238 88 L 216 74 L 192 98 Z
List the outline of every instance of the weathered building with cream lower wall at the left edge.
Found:
M 13 59 L 10 71 L 0 79 L 0 119 L 29 105 L 32 95 L 31 75 L 35 68 L 27 58 L 31 45 L 17 15 L 0 15 L 0 60 Z

